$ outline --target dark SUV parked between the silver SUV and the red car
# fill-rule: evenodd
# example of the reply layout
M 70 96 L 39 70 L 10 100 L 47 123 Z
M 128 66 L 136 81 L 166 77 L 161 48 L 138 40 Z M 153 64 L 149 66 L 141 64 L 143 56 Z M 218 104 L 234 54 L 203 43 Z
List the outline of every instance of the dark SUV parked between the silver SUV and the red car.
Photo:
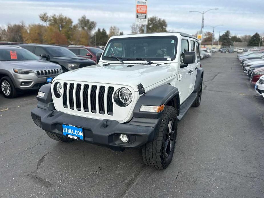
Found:
M 95 64 L 95 61 L 78 57 L 65 47 L 31 44 L 19 46 L 31 51 L 37 56 L 40 56 L 44 60 L 61 65 L 63 72 Z

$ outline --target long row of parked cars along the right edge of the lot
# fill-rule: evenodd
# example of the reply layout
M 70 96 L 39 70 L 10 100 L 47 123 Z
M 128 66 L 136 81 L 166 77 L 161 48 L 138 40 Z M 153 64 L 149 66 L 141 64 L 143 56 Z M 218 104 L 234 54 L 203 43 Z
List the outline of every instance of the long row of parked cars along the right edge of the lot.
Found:
M 264 52 L 248 51 L 237 57 L 250 82 L 255 84 L 255 91 L 264 98 Z

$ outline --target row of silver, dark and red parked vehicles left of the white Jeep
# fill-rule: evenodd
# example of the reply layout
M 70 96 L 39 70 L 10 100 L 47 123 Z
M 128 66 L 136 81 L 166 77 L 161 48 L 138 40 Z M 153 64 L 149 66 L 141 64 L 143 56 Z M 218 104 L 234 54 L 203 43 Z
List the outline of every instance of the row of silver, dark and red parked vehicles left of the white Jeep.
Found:
M 38 90 L 63 72 L 96 64 L 100 48 L 53 45 L 0 45 L 0 85 L 6 98 Z

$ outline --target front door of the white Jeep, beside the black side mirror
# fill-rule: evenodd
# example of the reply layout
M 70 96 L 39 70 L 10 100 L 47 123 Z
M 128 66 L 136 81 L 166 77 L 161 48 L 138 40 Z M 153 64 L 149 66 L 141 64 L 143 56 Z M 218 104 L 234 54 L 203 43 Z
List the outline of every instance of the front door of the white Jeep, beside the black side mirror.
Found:
M 189 39 L 182 39 L 181 41 L 181 52 L 180 52 L 180 65 L 184 63 L 184 52 L 189 51 Z M 190 64 L 187 67 L 179 68 L 179 86 L 178 90 L 180 93 L 180 104 L 186 100 L 190 92 Z

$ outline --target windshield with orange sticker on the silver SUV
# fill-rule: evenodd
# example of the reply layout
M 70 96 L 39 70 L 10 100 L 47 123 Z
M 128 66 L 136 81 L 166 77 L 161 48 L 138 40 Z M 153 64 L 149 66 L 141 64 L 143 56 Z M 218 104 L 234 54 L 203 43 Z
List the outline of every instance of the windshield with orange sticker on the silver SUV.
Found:
M 17 60 L 40 60 L 40 58 L 26 49 L 0 49 L 0 61 Z

